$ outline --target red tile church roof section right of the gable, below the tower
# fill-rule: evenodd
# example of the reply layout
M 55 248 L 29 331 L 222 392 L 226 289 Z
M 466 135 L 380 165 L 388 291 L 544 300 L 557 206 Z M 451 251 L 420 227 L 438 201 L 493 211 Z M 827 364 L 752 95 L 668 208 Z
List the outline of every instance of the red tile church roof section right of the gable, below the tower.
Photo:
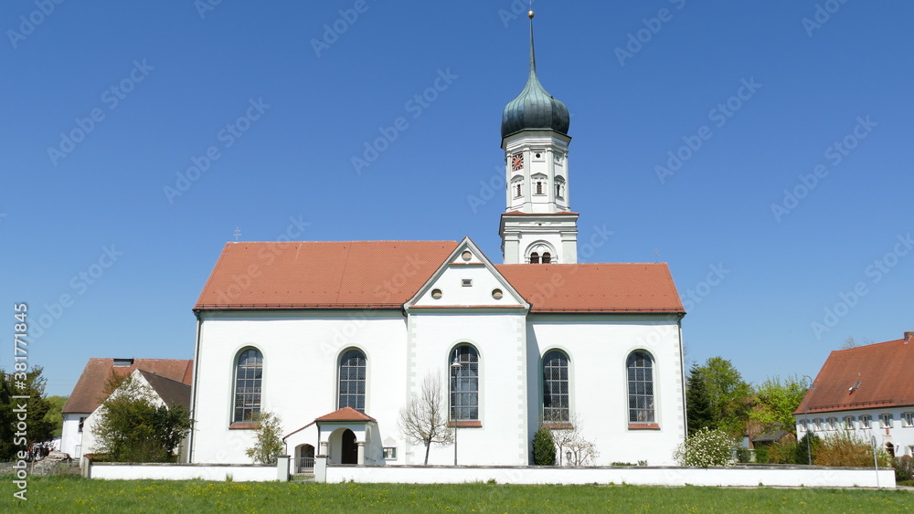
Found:
M 531 312 L 685 313 L 665 263 L 495 268 L 531 304 Z

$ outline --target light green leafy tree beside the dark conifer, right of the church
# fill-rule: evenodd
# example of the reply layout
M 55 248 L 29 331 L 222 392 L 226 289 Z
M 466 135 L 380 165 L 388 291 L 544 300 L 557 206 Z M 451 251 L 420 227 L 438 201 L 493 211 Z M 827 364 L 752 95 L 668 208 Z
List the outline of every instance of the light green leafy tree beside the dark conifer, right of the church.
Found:
M 722 357 L 711 357 L 699 368 L 711 404 L 713 428 L 729 435 L 742 435 L 746 431 L 751 407 L 749 383 L 743 381 L 733 364 Z

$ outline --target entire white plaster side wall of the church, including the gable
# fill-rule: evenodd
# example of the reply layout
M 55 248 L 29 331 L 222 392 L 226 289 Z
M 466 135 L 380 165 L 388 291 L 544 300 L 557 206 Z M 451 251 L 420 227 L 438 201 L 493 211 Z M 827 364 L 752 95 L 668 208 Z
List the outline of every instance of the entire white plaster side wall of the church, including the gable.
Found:
M 473 288 L 460 288 L 459 279 L 467 272 L 473 273 Z M 493 301 L 496 282 L 482 267 L 456 269 L 442 278 L 457 284 L 461 292 L 455 295 L 473 290 Z M 481 301 L 470 296 L 463 300 Z M 512 309 L 412 309 L 409 319 L 399 311 L 203 316 L 191 460 L 195 463 L 250 463 L 244 450 L 253 444 L 252 431 L 228 429 L 235 361 L 248 346 L 263 353 L 262 406 L 280 414 L 283 434 L 336 410 L 339 356 L 351 347 L 364 351 L 366 414 L 377 419 L 368 430 L 369 465 L 422 462 L 424 446 L 413 445 L 400 434 L 399 410 L 407 404 L 409 391 L 420 390 L 427 372 L 441 375 L 447 396 L 452 350 L 462 342 L 480 354 L 482 426 L 459 429 L 461 465 L 529 463 L 530 441 L 541 413 L 540 357 L 552 348 L 569 354 L 572 408 L 583 422 L 584 434 L 600 450 L 595 464 L 671 464 L 673 449 L 685 432 L 678 327 L 675 320 L 662 316 L 537 315 L 527 320 L 523 310 Z M 625 360 L 638 349 L 654 356 L 659 430 L 628 428 Z M 292 437 L 294 445 L 303 436 Z M 319 449 L 310 436 L 303 442 Z M 294 445 L 288 448 L 290 453 Z M 397 447 L 397 460 L 385 462 L 383 446 Z M 453 451 L 452 445 L 432 446 L 430 464 L 452 465 Z

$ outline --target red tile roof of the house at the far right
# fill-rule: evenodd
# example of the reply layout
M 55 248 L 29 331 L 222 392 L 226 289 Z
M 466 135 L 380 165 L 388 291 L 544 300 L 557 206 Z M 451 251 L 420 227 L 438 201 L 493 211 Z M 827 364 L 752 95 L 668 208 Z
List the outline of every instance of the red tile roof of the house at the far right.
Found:
M 794 414 L 914 405 L 912 369 L 914 339 L 832 351 Z

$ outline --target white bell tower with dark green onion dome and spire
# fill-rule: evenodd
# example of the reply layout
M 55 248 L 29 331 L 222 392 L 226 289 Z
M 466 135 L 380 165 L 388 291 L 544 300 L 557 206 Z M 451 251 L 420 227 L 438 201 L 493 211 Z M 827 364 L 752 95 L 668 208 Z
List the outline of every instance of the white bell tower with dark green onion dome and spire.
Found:
M 505 213 L 498 229 L 505 264 L 578 262 L 578 213 L 569 206 L 569 110 L 537 77 L 530 18 L 530 75 L 502 112 Z

